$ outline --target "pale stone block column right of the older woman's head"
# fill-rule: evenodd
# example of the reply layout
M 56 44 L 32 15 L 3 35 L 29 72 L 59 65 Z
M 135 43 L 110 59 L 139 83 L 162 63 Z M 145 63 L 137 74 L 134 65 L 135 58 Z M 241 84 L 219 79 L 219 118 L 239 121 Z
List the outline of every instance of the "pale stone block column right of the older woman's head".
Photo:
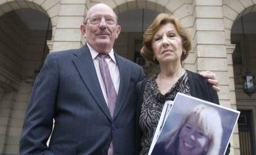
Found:
M 221 0 L 195 0 L 195 38 L 194 47 L 197 56 L 197 71 L 209 70 L 216 74 L 220 92 L 220 104 L 228 108 L 234 101 L 234 78 L 229 77 L 230 53 L 227 55 L 223 21 L 223 4 Z M 231 58 L 232 60 L 232 58 Z M 232 61 L 231 61 L 232 62 Z M 233 81 L 233 84 L 231 84 Z M 231 82 L 231 83 L 230 83 Z M 231 100 L 232 98 L 232 100 Z M 239 154 L 237 128 L 231 139 L 231 154 Z

